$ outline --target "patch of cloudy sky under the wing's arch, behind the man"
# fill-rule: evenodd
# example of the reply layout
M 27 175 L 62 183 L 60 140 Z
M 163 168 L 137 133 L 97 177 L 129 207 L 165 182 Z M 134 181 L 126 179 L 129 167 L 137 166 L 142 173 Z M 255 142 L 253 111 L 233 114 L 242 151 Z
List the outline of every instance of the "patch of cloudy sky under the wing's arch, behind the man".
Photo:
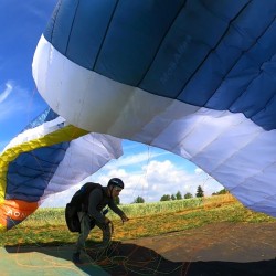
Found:
M 120 194 L 120 201 L 125 204 L 134 202 L 137 197 L 142 197 L 146 202 L 157 202 L 163 194 L 171 195 L 178 191 L 182 195 L 187 192 L 195 195 L 199 185 L 202 187 L 205 195 L 211 195 L 213 192 L 223 189 L 202 169 L 194 167 L 191 170 L 189 161 L 184 159 L 177 159 L 176 161 L 174 156 L 166 151 L 161 151 L 161 155 L 168 155 L 168 159 L 163 160 L 162 158 L 162 161 L 160 161 L 158 159 L 160 151 L 158 153 L 151 152 L 151 155 L 148 151 L 136 155 L 126 153 L 118 160 L 110 161 L 98 172 L 87 178 L 86 181 L 107 185 L 110 178 L 121 178 L 126 188 Z M 57 198 L 70 201 L 79 187 L 81 184 L 71 189 L 71 191 L 63 192 L 62 197 Z M 65 204 L 63 203 L 63 205 Z

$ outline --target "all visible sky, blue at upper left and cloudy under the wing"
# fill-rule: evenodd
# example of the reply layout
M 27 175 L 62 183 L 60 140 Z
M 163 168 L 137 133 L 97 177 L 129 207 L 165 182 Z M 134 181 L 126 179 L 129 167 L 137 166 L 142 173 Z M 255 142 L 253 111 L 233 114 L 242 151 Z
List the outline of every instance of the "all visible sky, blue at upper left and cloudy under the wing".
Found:
M 41 34 L 57 0 L 0 0 L 0 150 L 40 115 L 46 103 L 32 78 L 32 59 Z M 123 141 L 124 155 L 112 160 L 86 181 L 106 185 L 113 177 L 121 178 L 126 189 L 121 203 L 137 197 L 157 202 L 163 194 L 193 195 L 199 185 L 205 195 L 223 189 L 215 180 L 193 163 L 168 151 Z M 64 206 L 77 189 L 49 198 L 42 206 Z

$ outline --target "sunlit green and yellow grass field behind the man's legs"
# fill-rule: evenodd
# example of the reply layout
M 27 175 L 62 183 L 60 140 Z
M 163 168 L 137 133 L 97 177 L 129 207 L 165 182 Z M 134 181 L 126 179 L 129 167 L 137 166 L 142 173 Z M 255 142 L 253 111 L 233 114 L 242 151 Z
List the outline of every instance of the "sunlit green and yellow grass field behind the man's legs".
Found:
M 189 200 L 136 203 L 120 205 L 130 221 L 123 224 L 112 211 L 115 241 L 156 236 L 200 227 L 211 223 L 262 223 L 276 219 L 255 213 L 231 194 Z M 91 241 L 100 241 L 102 232 L 95 227 Z M 64 209 L 39 209 L 18 226 L 1 233 L 0 245 L 61 245 L 75 243 L 77 233 L 71 233 L 65 224 Z

